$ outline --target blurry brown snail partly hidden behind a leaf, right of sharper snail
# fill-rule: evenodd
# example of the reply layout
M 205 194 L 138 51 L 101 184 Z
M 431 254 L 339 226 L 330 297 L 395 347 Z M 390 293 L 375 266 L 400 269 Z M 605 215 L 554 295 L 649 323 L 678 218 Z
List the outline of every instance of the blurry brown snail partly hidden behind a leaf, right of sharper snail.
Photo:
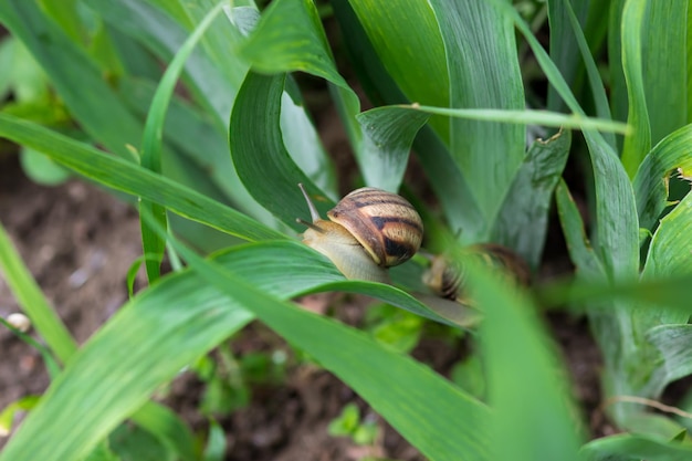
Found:
M 502 270 L 517 285 L 531 283 L 531 270 L 515 252 L 496 243 L 479 243 L 466 249 L 463 258 L 475 258 L 481 264 Z M 473 305 L 464 292 L 464 259 L 450 261 L 444 254 L 432 258 L 423 282 L 438 296 Z

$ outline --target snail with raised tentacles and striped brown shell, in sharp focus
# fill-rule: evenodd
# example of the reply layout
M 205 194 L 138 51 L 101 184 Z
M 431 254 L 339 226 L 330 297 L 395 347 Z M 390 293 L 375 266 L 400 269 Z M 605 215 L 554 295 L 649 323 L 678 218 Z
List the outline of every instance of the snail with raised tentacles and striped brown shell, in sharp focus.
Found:
M 420 249 L 423 223 L 403 197 L 373 187 L 356 189 L 319 217 L 303 185 L 312 222 L 303 242 L 327 256 L 347 279 L 390 283 L 388 268 Z

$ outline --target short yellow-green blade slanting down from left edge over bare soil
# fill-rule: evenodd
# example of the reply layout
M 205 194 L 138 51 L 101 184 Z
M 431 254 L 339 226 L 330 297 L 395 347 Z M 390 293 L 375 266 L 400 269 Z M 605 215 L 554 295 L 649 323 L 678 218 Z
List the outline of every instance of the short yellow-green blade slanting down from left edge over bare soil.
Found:
M 0 224 L 0 268 L 4 281 L 31 319 L 33 327 L 53 354 L 65 363 L 76 350 L 76 342 L 43 296 L 2 224 Z

